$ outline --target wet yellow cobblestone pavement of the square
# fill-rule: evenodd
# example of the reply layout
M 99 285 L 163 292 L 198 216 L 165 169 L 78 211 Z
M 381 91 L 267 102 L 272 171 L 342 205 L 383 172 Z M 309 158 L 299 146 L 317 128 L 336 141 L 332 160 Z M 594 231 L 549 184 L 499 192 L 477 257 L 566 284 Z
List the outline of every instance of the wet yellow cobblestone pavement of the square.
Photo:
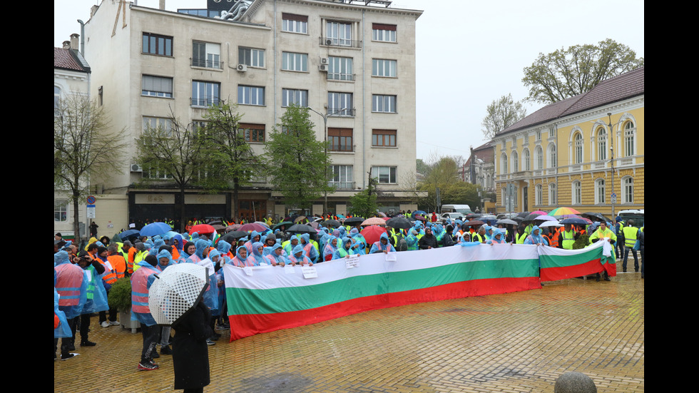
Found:
M 621 263 L 617 264 L 621 269 Z M 374 310 L 209 349 L 205 392 L 553 392 L 582 372 L 598 392 L 643 392 L 644 280 L 570 279 L 541 290 Z M 174 332 L 173 332 L 174 335 Z M 80 355 L 53 362 L 54 392 L 170 392 L 173 363 L 138 372 L 141 333 L 91 320 Z M 59 343 L 60 344 L 60 343 Z

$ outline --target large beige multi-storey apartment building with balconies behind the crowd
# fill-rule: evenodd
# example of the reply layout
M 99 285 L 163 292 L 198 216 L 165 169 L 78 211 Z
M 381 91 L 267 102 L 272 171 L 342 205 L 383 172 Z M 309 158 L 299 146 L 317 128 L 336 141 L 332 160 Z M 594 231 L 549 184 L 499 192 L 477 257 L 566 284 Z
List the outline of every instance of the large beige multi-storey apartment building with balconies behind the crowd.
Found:
M 99 188 L 128 198 L 131 218 L 172 218 L 179 195 L 167 174 L 148 173 L 133 159 L 146 125 L 167 126 L 170 110 L 197 123 L 213 103 L 238 103 L 245 136 L 264 158 L 272 128 L 297 103 L 312 109 L 317 138 L 330 142 L 331 213 L 346 213 L 369 173 L 379 179 L 379 203 L 414 209 L 403 197 L 415 188 L 415 23 L 422 11 L 394 9 L 389 1 L 239 3 L 215 18 L 218 11 L 173 12 L 116 0 L 93 6 L 85 25 L 91 90 L 130 143 L 123 174 Z M 137 188 L 144 176 L 160 185 Z M 192 190 L 184 198 L 190 216 L 230 218 L 233 210 L 229 193 Z M 322 205 L 318 200 L 307 213 L 322 213 Z M 255 173 L 238 205 L 241 217 L 257 219 L 283 218 L 290 208 L 265 173 Z

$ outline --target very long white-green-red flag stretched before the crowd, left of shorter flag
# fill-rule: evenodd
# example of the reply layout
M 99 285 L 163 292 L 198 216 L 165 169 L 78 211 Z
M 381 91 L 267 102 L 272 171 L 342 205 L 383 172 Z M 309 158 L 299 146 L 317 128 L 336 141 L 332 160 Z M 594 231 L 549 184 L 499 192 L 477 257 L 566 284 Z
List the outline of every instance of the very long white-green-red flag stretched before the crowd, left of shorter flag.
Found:
M 474 243 L 314 267 L 317 277 L 306 278 L 298 266 L 225 265 L 230 340 L 367 310 L 541 288 L 534 245 Z

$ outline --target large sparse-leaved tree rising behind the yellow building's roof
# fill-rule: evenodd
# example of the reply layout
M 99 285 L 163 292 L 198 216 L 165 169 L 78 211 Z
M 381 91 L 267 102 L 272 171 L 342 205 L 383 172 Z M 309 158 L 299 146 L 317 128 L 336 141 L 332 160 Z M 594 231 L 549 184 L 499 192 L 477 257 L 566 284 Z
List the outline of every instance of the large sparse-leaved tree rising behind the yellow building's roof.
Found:
M 573 45 L 539 57 L 524 68 L 528 101 L 555 103 L 590 91 L 598 83 L 643 66 L 636 52 L 612 39 L 598 45 Z

